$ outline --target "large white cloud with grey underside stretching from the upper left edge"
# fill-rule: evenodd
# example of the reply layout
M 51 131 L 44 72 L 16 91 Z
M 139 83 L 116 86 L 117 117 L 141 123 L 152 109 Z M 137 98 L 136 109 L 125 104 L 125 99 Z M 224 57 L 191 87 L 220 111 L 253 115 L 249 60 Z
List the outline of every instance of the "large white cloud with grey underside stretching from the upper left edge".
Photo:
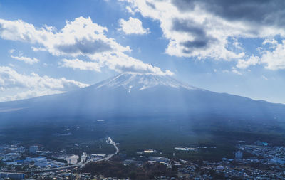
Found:
M 0 19 L 1 38 L 39 44 L 36 50 L 45 50 L 53 55 L 84 55 L 105 51 L 130 51 L 130 47 L 120 46 L 112 38 L 107 38 L 107 28 L 93 23 L 91 18 L 76 18 L 66 21 L 61 31 L 53 27 L 35 28 L 24 21 Z

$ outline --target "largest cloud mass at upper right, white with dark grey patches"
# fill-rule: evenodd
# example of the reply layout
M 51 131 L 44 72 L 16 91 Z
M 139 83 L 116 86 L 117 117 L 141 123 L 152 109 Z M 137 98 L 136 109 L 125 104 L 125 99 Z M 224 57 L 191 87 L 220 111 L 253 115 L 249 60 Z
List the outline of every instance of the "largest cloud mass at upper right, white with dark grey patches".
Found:
M 233 44 L 237 50 L 231 50 L 229 38 L 285 36 L 280 6 L 284 1 L 119 1 L 126 1 L 132 11 L 159 21 L 169 40 L 166 53 L 178 57 L 237 60 L 245 53 L 238 42 Z

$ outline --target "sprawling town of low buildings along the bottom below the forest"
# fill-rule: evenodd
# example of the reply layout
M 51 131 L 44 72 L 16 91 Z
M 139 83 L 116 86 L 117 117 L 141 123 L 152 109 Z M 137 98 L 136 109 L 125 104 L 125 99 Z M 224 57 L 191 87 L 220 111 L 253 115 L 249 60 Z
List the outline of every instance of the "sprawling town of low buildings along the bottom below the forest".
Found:
M 105 143 L 115 147 L 113 154 L 66 154 L 51 152 L 38 146 L 23 147 L 1 144 L 1 179 L 284 179 L 285 147 L 257 141 L 239 141 L 232 159 L 219 162 L 179 159 L 175 152 L 191 153 L 215 147 L 175 147 L 172 157 L 145 149 L 138 157 L 119 152 L 119 144 L 106 137 Z M 118 146 L 117 146 L 118 145 Z M 100 169 L 102 166 L 107 168 Z M 107 169 L 113 169 L 112 172 Z M 115 169 L 115 170 L 114 170 Z M 125 173 L 117 173 L 125 171 Z M 129 174 L 133 171 L 133 174 Z M 138 173 L 140 171 L 140 173 Z

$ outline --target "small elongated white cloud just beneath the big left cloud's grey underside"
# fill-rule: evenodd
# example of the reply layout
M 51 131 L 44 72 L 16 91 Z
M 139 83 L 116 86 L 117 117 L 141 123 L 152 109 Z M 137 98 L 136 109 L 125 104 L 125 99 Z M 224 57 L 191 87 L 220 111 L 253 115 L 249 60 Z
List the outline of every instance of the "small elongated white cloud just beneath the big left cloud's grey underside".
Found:
M 61 60 L 59 65 L 61 65 L 61 67 L 64 68 L 73 68 L 78 70 L 93 70 L 97 72 L 100 72 L 100 67 L 101 67 L 100 63 L 86 62 L 79 59 L 72 59 L 72 60 L 63 59 Z

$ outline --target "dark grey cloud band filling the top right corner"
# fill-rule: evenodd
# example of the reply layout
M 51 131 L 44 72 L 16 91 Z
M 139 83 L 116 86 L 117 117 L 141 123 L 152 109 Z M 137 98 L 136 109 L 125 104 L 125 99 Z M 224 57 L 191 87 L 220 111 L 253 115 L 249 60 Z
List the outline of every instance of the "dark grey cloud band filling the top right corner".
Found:
M 172 0 L 181 11 L 195 6 L 230 21 L 285 27 L 284 0 Z

